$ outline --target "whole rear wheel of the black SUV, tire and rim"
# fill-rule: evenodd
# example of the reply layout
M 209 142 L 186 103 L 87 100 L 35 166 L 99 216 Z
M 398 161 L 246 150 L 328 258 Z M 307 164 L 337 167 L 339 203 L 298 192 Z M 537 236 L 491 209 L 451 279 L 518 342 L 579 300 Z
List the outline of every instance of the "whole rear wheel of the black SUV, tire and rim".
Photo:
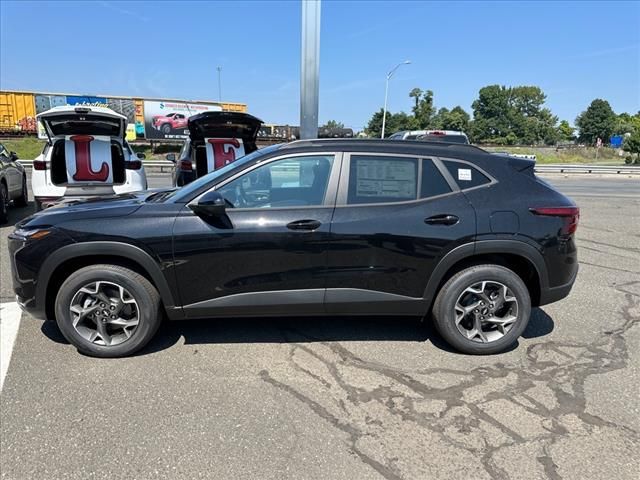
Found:
M 531 297 L 522 279 L 499 265 L 458 272 L 440 289 L 433 305 L 442 337 L 464 353 L 502 352 L 529 322 Z

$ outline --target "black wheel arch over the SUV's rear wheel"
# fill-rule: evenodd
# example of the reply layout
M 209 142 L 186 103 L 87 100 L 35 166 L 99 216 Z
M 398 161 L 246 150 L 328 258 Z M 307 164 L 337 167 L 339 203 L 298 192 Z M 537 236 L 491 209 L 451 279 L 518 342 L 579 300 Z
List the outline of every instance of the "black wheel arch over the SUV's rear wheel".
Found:
M 547 270 L 542 254 L 533 246 L 519 240 L 483 240 L 464 244 L 447 253 L 429 278 L 424 298 L 429 310 L 444 283 L 459 271 L 492 263 L 513 270 L 525 283 L 531 304 L 540 304 L 541 292 L 548 285 Z

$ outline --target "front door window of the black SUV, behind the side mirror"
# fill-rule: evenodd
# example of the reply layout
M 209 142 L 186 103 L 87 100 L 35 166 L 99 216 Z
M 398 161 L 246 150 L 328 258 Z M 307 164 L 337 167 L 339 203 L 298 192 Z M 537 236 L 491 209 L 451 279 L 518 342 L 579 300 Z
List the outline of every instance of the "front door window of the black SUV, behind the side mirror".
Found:
M 284 158 L 236 178 L 219 191 L 235 208 L 322 205 L 332 165 L 332 155 Z

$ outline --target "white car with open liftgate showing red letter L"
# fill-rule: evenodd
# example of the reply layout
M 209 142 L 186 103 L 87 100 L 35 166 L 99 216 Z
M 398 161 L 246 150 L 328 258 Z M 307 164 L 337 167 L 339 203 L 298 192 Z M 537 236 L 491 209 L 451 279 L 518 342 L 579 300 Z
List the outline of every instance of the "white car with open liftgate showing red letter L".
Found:
M 143 154 L 125 140 L 127 118 L 104 107 L 55 107 L 36 117 L 48 141 L 33 161 L 36 210 L 68 199 L 147 189 Z

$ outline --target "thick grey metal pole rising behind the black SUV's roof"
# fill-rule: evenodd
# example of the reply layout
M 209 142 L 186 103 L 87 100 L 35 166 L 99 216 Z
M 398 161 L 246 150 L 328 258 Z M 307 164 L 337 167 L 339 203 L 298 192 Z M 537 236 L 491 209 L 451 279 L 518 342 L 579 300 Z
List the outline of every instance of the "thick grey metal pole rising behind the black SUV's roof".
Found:
M 302 0 L 300 68 L 300 138 L 316 138 L 320 86 L 320 0 Z

